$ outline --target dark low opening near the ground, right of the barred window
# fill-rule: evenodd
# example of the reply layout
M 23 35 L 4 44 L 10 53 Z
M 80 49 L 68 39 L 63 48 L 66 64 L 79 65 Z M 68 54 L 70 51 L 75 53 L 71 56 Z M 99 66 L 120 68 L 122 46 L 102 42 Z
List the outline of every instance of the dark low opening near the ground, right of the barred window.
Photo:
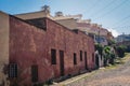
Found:
M 38 82 L 38 66 L 31 66 L 31 82 Z

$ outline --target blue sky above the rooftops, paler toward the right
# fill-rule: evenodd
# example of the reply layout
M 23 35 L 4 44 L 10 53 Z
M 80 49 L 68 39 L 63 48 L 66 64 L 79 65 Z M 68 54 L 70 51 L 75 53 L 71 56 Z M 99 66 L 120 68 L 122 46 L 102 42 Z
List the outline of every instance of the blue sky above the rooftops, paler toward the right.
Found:
M 82 19 L 102 25 L 115 37 L 130 34 L 130 0 L 0 0 L 0 11 L 12 15 L 40 11 L 43 5 L 51 8 L 51 15 L 82 14 Z

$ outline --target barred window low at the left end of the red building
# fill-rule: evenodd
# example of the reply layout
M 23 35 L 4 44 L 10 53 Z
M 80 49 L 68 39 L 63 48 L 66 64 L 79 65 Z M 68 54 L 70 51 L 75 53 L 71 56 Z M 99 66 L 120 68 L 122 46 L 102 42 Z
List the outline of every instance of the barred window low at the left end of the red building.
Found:
M 9 64 L 9 77 L 17 77 L 17 64 L 16 63 Z

